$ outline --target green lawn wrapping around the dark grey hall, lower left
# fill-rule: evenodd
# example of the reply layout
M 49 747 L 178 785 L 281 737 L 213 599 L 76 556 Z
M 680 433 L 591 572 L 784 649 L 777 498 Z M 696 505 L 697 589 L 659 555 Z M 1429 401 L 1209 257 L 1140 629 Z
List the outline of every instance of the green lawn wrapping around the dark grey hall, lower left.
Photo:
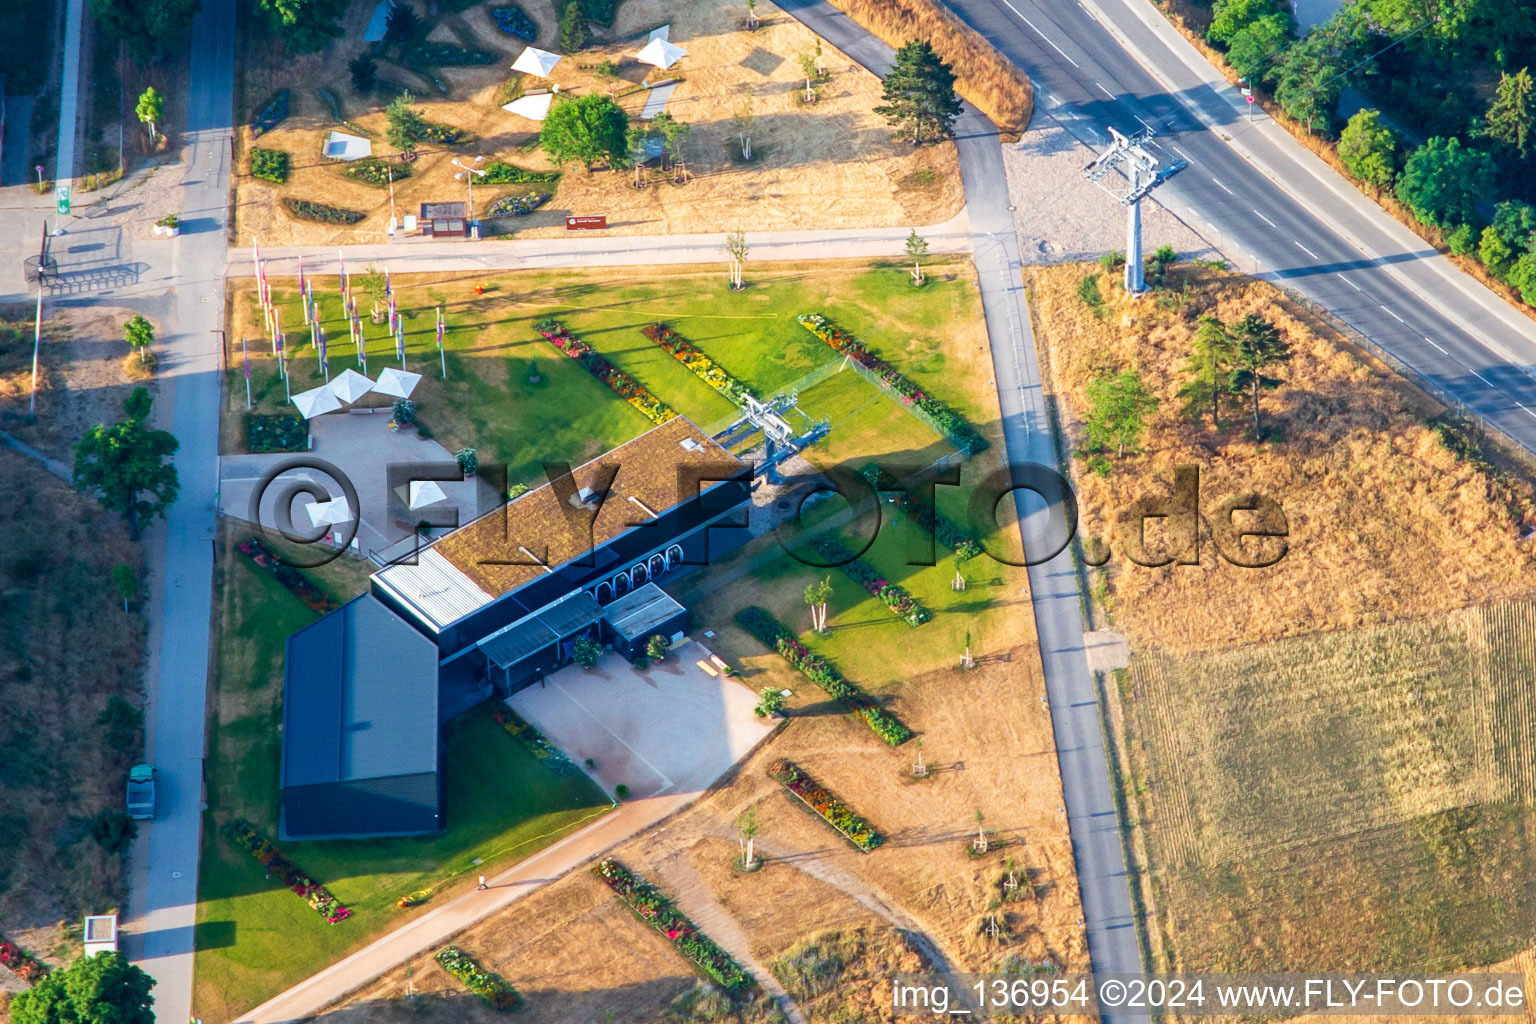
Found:
M 421 910 L 396 907 L 401 895 L 441 886 L 441 901 L 475 874 L 501 870 L 610 808 L 585 775 L 556 775 L 488 715 L 458 718 L 445 732 L 444 835 L 281 844 L 352 907 L 352 918 L 327 924 L 220 834 L 244 817 L 276 838 L 281 640 L 315 614 L 240 554 L 221 568 L 221 613 L 198 880 L 198 1015 L 224 1019 L 267 999 L 409 923 Z

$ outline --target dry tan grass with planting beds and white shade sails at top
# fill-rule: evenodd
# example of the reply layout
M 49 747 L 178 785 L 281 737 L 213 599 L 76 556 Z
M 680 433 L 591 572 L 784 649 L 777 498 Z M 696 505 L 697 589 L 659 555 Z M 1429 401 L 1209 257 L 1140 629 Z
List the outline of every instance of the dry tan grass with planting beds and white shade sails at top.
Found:
M 347 74 L 347 58 L 359 49 L 356 40 L 373 11 L 373 0 L 355 0 L 346 17 L 344 43 L 315 55 L 292 57 L 252 43 L 244 61 L 243 114 L 260 109 L 278 89 L 290 91 L 290 117 L 275 130 L 252 141 L 241 132 L 240 169 L 249 170 L 249 149 L 283 149 L 290 154 L 292 172 L 286 184 L 257 181 L 249 173 L 237 177 L 237 226 L 241 244 L 252 238 L 270 244 L 333 244 L 381 239 L 389 221 L 384 189 L 343 177 L 341 164 L 321 157 L 321 140 L 335 124 L 318 89 L 341 100 L 344 115 L 373 134 L 373 155 L 395 158 L 384 138 L 382 106 L 387 95 L 358 95 Z M 522 5 L 541 25 L 539 46 L 554 46 L 551 6 L 544 2 Z M 659 25 L 671 25 L 673 41 L 688 49 L 677 69 L 684 80 L 667 109 L 691 126 L 688 183 L 676 186 L 671 175 L 647 172 L 647 186 L 633 187 L 631 172 L 599 166 L 587 172 L 573 164 L 550 186 L 485 186 L 475 190 L 475 204 L 484 210 L 502 195 L 551 192 L 548 204 L 528 216 L 507 218 L 521 236 L 564 236 L 570 213 L 605 213 L 610 232 L 624 235 L 668 232 L 731 230 L 743 224 L 750 209 L 754 229 L 862 227 L 891 224 L 929 224 L 945 221 L 960 210 L 960 186 L 954 146 L 915 149 L 892 140 L 885 121 L 871 112 L 879 104 L 879 80 L 846 55 L 823 45 L 823 61 L 831 77 L 817 86 L 811 106 L 796 101 L 796 57 L 814 49 L 817 37 L 770 0 L 759 5 L 762 25 L 745 31 L 742 11 L 711 0 L 667 3 L 665 0 L 625 0 L 611 31 L 601 31 L 588 49 L 567 57 L 551 72 L 550 81 L 562 92 L 622 91 L 639 83 L 648 64 L 633 60 L 636 37 Z M 392 61 L 381 61 L 381 77 L 407 86 L 419 98 L 425 117 L 470 132 L 461 146 L 421 147 L 412 177 L 395 189 L 399 213 L 415 213 L 418 204 L 438 200 L 464 200 L 462 181 L 453 180 L 453 157 L 484 155 L 530 170 L 551 164 L 538 150 L 536 121 L 501 109 L 508 64 L 522 41 L 499 32 L 485 6 L 464 14 L 444 14 L 433 38 L 468 40 L 473 46 L 501 54 L 501 60 L 481 68 L 439 69 L 452 92 L 438 94 L 430 83 Z M 617 78 L 598 77 L 599 61 L 617 64 Z M 656 75 L 653 75 L 654 78 Z M 536 80 L 527 80 L 535 88 Z M 753 132 L 754 160 L 740 163 L 731 115 L 751 103 L 757 118 Z M 619 100 L 637 118 L 645 94 Z M 283 197 L 307 198 L 366 212 L 367 218 L 343 227 L 296 221 L 281 207 Z

